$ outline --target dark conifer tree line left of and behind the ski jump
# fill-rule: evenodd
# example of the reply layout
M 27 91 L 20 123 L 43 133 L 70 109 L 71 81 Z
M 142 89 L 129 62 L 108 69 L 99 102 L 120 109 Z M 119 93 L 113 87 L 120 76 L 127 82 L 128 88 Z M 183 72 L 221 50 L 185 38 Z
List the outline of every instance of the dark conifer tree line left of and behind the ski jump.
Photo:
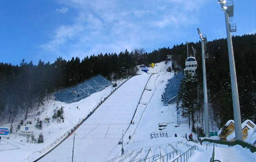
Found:
M 135 75 L 137 64 L 160 62 L 167 50 L 155 50 L 147 54 L 143 49 L 119 54 L 99 54 L 84 59 L 57 58 L 52 64 L 42 62 L 21 63 L 17 66 L 0 63 L 0 116 L 9 123 L 17 116 L 27 118 L 29 112 L 38 110 L 41 104 L 52 98 L 54 92 L 74 86 L 97 74 L 108 80 L 118 80 Z M 165 52 L 163 52 L 165 51 Z M 3 118 L 4 116 L 4 118 Z

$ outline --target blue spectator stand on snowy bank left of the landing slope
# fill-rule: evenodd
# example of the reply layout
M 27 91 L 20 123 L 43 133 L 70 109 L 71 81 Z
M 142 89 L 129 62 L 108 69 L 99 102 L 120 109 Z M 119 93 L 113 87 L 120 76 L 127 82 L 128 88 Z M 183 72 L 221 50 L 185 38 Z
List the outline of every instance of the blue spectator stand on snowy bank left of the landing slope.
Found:
M 106 80 L 103 76 L 97 75 L 92 78 L 85 80 L 84 82 L 73 86 L 71 88 L 66 88 L 60 92 L 54 94 L 57 100 L 66 103 L 78 102 L 90 94 L 99 92 L 105 89 L 107 86 L 111 85 L 109 80 Z

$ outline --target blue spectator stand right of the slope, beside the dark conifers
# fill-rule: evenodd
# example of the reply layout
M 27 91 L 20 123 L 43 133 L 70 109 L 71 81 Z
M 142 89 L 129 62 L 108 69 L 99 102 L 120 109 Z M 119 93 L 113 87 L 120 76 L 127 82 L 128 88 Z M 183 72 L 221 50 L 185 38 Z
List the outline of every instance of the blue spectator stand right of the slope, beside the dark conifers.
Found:
M 168 104 L 168 102 L 174 99 L 178 92 L 180 91 L 180 84 L 182 84 L 182 80 L 185 78 L 182 72 L 179 72 L 173 78 L 168 80 L 168 84 L 166 84 L 166 88 L 164 89 L 164 104 Z

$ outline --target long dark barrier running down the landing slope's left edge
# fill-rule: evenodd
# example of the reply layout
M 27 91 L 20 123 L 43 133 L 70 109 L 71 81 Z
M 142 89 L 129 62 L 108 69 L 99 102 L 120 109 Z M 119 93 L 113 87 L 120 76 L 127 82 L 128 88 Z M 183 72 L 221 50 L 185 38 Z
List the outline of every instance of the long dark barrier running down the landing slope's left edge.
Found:
M 128 78 L 127 80 L 129 80 L 130 78 Z M 125 82 L 127 82 L 127 80 L 125 80 Z M 117 88 L 115 88 L 115 90 L 120 88 L 123 84 L 125 84 L 125 82 L 120 84 Z M 70 137 L 70 135 L 72 135 L 72 133 L 74 133 L 74 131 L 76 131 L 76 129 L 78 129 L 78 127 L 80 127 L 80 125 L 82 125 L 82 123 L 84 123 L 84 121 L 87 120 L 94 113 L 94 111 L 97 110 L 97 108 L 99 108 L 99 106 L 101 106 L 101 104 L 103 104 L 103 102 L 105 102 L 105 100 L 107 100 L 107 98 L 109 98 L 109 96 L 111 96 L 111 94 L 113 94 L 113 92 L 115 92 L 115 90 L 111 91 L 111 93 L 106 98 L 104 98 L 104 100 L 101 100 L 101 102 L 99 102 L 99 104 L 84 119 L 79 121 L 79 123 L 76 124 L 72 129 L 70 129 L 69 131 L 64 133 L 64 135 L 62 135 L 60 138 L 58 138 L 56 141 L 54 141 L 54 143 L 52 143 L 51 145 L 49 145 L 45 149 L 42 149 L 41 151 L 38 151 L 39 153 L 44 153 L 44 155 L 42 155 L 38 159 L 34 160 L 34 162 L 39 161 L 40 159 L 45 157 L 48 153 L 50 153 L 54 149 L 56 149 L 56 147 L 58 147 L 63 141 L 68 139 L 68 137 Z

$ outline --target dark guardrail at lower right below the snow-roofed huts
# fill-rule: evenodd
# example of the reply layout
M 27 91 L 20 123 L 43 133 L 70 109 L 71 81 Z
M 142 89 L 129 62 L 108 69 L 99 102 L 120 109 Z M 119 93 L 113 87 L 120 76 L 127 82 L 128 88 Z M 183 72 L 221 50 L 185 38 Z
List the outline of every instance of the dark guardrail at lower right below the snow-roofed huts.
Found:
M 252 153 L 255 153 L 256 152 L 256 147 L 251 145 L 250 143 L 246 143 L 244 141 L 239 141 L 239 140 L 236 140 L 236 141 L 220 141 L 220 140 L 213 140 L 213 139 L 203 139 L 203 141 L 207 141 L 207 142 L 210 142 L 210 143 L 218 143 L 218 144 L 221 144 L 221 145 L 229 145 L 229 146 L 234 146 L 234 145 L 241 145 L 241 147 L 243 148 L 247 148 L 247 149 L 250 149 L 250 151 Z

